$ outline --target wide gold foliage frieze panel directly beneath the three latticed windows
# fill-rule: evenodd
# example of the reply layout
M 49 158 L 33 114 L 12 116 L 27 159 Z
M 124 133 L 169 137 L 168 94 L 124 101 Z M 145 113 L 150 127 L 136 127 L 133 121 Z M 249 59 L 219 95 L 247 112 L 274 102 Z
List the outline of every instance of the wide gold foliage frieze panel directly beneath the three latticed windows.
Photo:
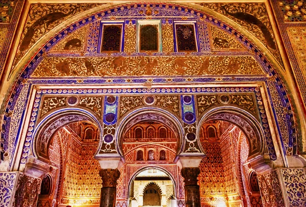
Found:
M 251 56 L 47 57 L 33 77 L 265 74 Z

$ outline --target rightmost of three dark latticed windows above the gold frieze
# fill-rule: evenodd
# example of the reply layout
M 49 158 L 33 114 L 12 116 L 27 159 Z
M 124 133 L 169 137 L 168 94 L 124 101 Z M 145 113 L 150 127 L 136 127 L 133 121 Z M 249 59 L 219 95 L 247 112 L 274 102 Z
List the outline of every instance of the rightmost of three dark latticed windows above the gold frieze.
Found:
M 176 24 L 176 43 L 179 52 L 196 52 L 193 24 Z

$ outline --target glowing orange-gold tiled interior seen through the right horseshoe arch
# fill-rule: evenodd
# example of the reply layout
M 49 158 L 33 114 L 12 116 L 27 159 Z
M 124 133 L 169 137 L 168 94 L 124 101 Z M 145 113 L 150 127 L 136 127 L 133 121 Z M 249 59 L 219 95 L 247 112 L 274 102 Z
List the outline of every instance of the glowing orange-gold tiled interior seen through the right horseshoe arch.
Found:
M 222 120 L 203 123 L 199 138 L 206 158 L 200 163 L 200 196 L 213 206 L 263 206 L 254 170 L 248 165 L 249 142 L 238 127 Z M 213 133 L 215 132 L 215 133 Z M 214 136 L 213 136 L 214 135 Z M 251 175 L 249 175 L 251 173 Z

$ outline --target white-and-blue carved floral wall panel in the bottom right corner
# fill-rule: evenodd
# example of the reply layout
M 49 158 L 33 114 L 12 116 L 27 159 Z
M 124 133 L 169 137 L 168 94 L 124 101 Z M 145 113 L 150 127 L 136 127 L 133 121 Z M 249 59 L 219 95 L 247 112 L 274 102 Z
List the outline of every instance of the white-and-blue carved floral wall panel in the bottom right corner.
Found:
M 290 206 L 306 205 L 306 175 L 303 169 L 282 168 Z

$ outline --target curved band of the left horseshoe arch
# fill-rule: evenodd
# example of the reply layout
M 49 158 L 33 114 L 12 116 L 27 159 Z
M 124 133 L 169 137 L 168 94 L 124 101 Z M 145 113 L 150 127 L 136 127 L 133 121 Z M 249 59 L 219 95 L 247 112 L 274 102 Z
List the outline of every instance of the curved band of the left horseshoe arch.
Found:
M 39 160 L 49 162 L 48 146 L 53 135 L 67 124 L 73 122 L 91 122 L 95 124 L 101 132 L 101 125 L 95 115 L 79 108 L 65 108 L 54 111 L 52 114 L 46 116 L 36 126 L 34 131 L 34 138 L 32 150 L 35 157 Z M 101 139 L 101 133 L 99 133 Z

